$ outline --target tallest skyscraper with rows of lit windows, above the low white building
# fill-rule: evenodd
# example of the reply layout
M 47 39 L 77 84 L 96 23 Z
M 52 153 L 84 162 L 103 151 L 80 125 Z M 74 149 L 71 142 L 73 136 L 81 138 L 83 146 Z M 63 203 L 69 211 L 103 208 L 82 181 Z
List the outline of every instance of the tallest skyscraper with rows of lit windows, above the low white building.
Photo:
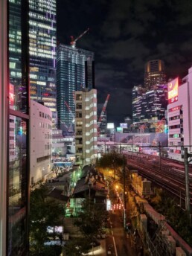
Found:
M 31 100 L 43 103 L 57 119 L 56 0 L 29 1 Z

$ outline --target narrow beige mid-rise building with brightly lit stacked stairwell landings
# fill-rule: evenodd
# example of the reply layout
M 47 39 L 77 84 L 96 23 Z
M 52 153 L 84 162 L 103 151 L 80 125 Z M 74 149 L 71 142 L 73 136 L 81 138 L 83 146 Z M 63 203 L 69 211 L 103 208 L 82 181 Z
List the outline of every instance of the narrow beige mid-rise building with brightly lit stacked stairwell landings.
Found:
M 97 158 L 97 90 L 75 92 L 75 145 L 77 161 Z

